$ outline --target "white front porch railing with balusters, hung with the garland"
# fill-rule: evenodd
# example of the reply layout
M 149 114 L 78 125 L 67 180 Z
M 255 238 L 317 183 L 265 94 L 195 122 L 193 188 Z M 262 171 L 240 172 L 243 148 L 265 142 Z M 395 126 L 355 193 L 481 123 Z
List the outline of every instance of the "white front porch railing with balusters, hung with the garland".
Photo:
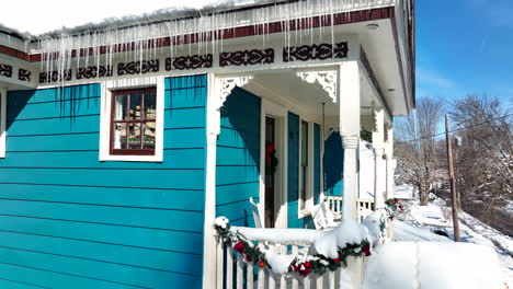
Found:
M 267 231 L 281 229 L 252 229 L 240 228 L 246 232 L 259 230 L 263 232 L 261 235 L 269 235 Z M 283 244 L 273 243 L 271 238 L 258 236 L 256 233 L 251 234 L 249 241 L 258 243 L 261 251 L 271 251 L 276 254 L 295 254 L 299 256 L 308 255 L 312 241 L 297 242 L 297 236 L 308 234 L 314 230 L 307 229 L 283 229 L 290 230 L 288 238 L 282 238 Z M 264 232 L 265 231 L 265 232 Z M 309 232 L 310 231 L 310 232 Z M 256 231 L 255 231 L 256 232 Z M 289 239 L 289 240 L 287 240 Z M 293 241 L 295 239 L 295 241 Z M 322 276 L 309 274 L 301 277 L 298 274 L 275 275 L 266 266 L 260 268 L 253 262 L 246 262 L 241 254 L 238 254 L 231 247 L 226 247 L 221 242 L 217 244 L 217 289 L 338 289 L 340 282 L 340 270 L 329 271 Z

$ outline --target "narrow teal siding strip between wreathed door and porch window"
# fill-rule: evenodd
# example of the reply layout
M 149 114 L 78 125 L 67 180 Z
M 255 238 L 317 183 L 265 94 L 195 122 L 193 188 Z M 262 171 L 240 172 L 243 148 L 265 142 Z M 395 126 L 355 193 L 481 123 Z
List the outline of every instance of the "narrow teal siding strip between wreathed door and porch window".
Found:
M 299 116 L 288 113 L 288 228 L 303 228 L 303 221 L 298 219 L 299 197 Z

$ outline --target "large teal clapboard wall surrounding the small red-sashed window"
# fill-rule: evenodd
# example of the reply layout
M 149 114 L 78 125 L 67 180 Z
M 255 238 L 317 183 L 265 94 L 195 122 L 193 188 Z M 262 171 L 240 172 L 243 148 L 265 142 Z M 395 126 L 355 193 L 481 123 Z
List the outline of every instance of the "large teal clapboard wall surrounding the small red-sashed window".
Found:
M 100 85 L 8 94 L 0 288 L 201 288 L 206 76 L 166 79 L 163 162 L 100 162 Z

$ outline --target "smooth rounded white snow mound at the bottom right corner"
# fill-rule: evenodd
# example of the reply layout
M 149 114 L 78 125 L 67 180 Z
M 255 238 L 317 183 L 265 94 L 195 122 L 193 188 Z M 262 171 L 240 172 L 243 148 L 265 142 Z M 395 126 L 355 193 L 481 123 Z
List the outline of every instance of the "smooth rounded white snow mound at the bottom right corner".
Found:
M 364 289 L 503 288 L 493 248 L 466 243 L 392 242 L 367 263 Z

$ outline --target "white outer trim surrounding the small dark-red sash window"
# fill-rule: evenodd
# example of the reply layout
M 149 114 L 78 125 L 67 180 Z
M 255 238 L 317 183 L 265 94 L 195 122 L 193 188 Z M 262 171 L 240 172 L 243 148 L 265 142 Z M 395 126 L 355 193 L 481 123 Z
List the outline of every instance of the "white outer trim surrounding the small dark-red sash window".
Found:
M 113 154 L 113 92 L 156 88 L 156 130 L 153 154 Z M 162 162 L 164 135 L 164 77 L 141 77 L 137 79 L 115 79 L 101 82 L 100 113 L 100 161 Z

